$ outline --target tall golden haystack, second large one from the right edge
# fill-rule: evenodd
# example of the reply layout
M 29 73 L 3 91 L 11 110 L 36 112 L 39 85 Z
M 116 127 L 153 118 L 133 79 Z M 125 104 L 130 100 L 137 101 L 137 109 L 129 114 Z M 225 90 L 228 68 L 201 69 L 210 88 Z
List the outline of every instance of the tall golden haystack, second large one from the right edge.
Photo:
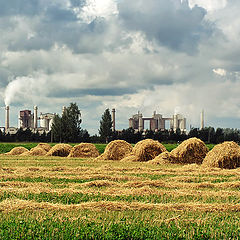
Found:
M 173 149 L 171 156 L 176 163 L 201 164 L 208 151 L 207 146 L 202 140 L 189 138 Z

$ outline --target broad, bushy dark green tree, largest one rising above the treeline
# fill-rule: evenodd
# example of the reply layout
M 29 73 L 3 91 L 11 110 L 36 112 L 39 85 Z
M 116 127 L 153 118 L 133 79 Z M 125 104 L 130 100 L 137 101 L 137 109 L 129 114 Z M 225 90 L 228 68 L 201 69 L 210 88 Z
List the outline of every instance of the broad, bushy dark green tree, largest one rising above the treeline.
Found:
M 54 141 L 77 142 L 80 139 L 82 122 L 81 112 L 76 103 L 70 103 L 62 117 L 56 115 L 53 119 L 52 131 Z

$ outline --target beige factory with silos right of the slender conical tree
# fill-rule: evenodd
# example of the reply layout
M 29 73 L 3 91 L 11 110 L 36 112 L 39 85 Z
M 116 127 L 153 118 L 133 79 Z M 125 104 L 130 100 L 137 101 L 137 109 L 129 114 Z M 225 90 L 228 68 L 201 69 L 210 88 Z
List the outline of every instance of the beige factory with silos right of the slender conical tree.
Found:
M 173 129 L 174 132 L 177 129 L 186 132 L 186 118 L 181 114 L 174 114 L 172 117 L 164 118 L 162 114 L 157 114 L 156 111 L 154 111 L 152 117 L 143 117 L 142 113 L 138 112 L 129 119 L 129 127 L 135 131 L 144 131 L 146 121 L 150 121 L 150 130 L 152 131 L 164 131 L 166 122 L 169 121 L 170 129 Z

